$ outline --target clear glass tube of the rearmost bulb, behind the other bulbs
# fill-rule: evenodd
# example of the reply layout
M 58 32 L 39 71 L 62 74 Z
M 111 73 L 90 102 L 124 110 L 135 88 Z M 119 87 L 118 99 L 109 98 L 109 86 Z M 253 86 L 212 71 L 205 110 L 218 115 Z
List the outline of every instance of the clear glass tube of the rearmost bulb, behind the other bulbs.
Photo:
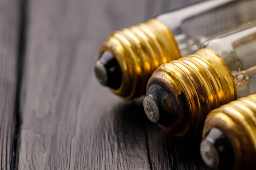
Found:
M 156 19 L 172 31 L 181 56 L 186 57 L 200 49 L 207 38 L 255 20 L 255 7 L 254 0 L 210 0 L 160 14 Z

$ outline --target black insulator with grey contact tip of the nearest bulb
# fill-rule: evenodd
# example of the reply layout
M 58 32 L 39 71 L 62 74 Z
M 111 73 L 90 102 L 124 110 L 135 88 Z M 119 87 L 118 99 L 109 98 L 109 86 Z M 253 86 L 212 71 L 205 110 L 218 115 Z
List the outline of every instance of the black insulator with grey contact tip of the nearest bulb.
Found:
M 226 135 L 218 128 L 211 128 L 200 144 L 204 163 L 212 169 L 231 170 L 234 167 L 234 152 Z

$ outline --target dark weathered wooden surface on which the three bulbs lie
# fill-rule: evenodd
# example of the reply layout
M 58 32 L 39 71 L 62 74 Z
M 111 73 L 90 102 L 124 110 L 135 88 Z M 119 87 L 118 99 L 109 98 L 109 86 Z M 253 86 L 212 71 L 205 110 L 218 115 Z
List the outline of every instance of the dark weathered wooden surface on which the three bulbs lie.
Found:
M 208 169 L 93 73 L 114 30 L 196 0 L 0 0 L 1 169 Z M 197 0 L 198 1 L 198 0 Z

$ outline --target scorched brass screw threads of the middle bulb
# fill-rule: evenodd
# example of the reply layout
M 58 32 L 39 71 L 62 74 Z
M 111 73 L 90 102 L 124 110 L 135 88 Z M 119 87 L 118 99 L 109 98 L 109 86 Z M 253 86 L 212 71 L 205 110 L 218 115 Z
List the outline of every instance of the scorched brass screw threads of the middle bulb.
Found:
M 237 99 L 227 64 L 211 49 L 163 64 L 149 79 L 147 90 L 153 84 L 166 89 L 173 105 L 172 125 L 159 126 L 177 136 L 202 128 L 211 110 Z

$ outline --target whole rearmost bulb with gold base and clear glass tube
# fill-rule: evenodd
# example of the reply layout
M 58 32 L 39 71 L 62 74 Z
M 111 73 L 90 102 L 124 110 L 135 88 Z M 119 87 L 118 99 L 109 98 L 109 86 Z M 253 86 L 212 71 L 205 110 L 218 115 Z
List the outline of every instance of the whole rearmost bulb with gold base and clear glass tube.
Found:
M 192 54 L 209 36 L 255 20 L 255 9 L 254 0 L 208 0 L 115 31 L 99 50 L 96 77 L 125 99 L 138 97 L 158 66 Z

